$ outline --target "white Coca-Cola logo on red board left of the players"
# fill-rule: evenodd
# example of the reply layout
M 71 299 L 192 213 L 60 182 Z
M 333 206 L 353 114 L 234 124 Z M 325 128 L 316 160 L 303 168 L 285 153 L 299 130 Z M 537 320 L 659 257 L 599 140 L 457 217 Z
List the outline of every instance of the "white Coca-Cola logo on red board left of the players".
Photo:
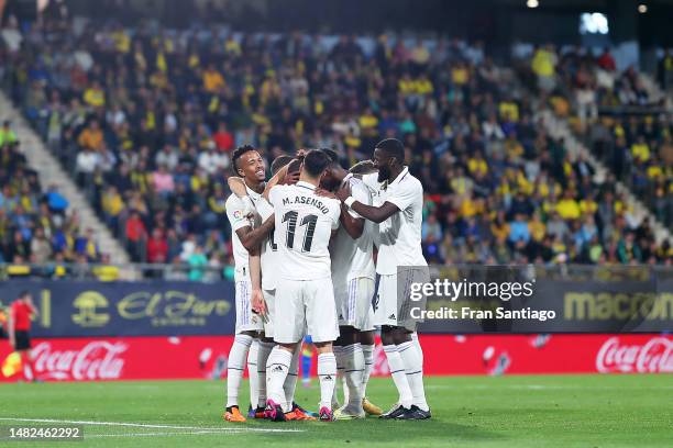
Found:
M 124 368 L 122 343 L 95 340 L 78 350 L 54 350 L 48 341 L 33 349 L 35 371 L 43 380 L 118 380 Z

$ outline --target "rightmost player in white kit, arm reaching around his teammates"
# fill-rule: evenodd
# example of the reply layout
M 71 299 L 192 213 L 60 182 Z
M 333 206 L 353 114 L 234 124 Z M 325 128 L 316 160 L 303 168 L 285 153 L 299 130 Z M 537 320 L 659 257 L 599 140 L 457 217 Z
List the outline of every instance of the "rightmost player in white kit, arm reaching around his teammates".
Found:
M 404 158 L 404 145 L 395 138 L 376 145 L 373 163 L 378 173 L 364 180 L 376 191 L 377 204 L 362 203 L 345 186 L 336 197 L 360 216 L 379 225 L 374 324 L 382 328 L 390 374 L 399 392 L 398 405 L 383 417 L 423 419 L 430 418 L 430 411 L 422 381 L 422 351 L 412 338 L 417 323 L 408 315 L 407 287 L 398 291 L 398 283 L 428 280 L 421 249 L 423 191 Z

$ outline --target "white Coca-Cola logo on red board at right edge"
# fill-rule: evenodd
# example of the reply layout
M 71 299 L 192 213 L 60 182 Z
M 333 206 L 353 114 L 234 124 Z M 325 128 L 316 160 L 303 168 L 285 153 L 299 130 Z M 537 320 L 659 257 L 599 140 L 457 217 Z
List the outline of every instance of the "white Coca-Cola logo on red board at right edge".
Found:
M 596 370 L 602 373 L 673 372 L 673 340 L 653 337 L 644 344 L 621 345 L 618 337 L 606 340 L 596 355 Z

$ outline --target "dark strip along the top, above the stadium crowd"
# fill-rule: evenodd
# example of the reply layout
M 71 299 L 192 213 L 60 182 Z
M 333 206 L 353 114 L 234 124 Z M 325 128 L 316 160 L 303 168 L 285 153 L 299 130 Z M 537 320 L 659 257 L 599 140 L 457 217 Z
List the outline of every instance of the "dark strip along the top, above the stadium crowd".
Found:
M 55 1 L 55 0 L 52 0 Z M 608 16 L 613 43 L 673 47 L 673 0 L 64 0 L 73 13 L 124 22 L 157 19 L 173 26 L 218 21 L 238 30 L 332 33 L 423 31 L 507 46 L 514 41 L 580 44 L 580 13 Z M 638 13 L 644 3 L 648 13 Z M 8 0 L 9 12 L 34 15 L 35 0 Z

